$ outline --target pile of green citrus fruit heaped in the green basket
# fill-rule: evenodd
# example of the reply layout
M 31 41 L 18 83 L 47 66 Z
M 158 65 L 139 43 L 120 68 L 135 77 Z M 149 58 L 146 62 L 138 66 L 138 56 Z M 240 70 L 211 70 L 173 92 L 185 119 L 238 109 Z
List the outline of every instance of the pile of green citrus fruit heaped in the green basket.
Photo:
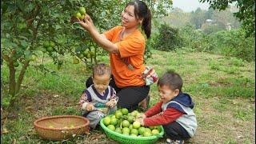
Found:
M 141 126 L 140 122 L 134 121 L 138 114 L 141 113 L 137 110 L 129 113 L 122 108 L 103 118 L 102 122 L 110 130 L 134 137 L 150 137 L 161 132 L 160 126 Z

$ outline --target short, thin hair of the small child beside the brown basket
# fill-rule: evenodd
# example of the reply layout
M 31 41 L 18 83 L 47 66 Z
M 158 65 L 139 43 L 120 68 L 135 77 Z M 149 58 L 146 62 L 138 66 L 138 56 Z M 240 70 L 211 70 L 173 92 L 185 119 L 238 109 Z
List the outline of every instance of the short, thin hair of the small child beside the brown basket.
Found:
M 94 75 L 101 76 L 104 74 L 110 74 L 111 76 L 110 66 L 106 65 L 105 63 L 98 63 L 93 67 L 93 77 Z

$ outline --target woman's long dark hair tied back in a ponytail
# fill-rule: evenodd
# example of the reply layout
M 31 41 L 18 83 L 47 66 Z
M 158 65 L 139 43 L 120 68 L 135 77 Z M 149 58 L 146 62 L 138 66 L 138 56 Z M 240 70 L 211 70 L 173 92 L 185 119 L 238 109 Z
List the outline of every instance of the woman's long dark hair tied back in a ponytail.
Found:
M 146 6 L 145 2 L 135 0 L 133 2 L 127 3 L 127 6 L 134 6 L 134 14 L 137 19 L 142 19 L 142 30 L 146 34 L 146 38 L 150 38 L 151 34 L 151 11 Z

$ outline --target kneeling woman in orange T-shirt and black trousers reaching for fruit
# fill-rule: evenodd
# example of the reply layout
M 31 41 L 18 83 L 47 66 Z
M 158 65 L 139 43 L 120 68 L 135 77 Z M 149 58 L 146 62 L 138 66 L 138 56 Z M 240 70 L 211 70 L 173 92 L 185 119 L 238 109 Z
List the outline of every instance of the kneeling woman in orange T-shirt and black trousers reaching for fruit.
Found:
M 86 14 L 85 22 L 77 20 L 89 32 L 94 42 L 110 53 L 110 66 L 113 74 L 110 86 L 117 91 L 119 98 L 118 107 L 136 110 L 139 102 L 147 97 L 150 86 L 146 86 L 142 79 L 142 72 L 146 70 L 143 65 L 146 40 L 139 30 L 150 38 L 151 12 L 145 2 L 135 0 L 129 2 L 122 11 L 122 26 L 100 34 L 94 22 Z M 86 81 L 86 86 L 92 84 L 91 78 Z M 148 97 L 149 99 L 149 97 Z

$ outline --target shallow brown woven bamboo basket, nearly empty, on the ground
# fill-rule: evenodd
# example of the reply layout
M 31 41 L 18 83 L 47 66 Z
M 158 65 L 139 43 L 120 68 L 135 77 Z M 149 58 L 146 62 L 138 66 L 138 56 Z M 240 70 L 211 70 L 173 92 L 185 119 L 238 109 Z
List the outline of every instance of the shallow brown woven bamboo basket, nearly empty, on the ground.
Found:
M 77 115 L 57 115 L 34 121 L 38 135 L 44 139 L 65 140 L 90 131 L 89 119 Z

